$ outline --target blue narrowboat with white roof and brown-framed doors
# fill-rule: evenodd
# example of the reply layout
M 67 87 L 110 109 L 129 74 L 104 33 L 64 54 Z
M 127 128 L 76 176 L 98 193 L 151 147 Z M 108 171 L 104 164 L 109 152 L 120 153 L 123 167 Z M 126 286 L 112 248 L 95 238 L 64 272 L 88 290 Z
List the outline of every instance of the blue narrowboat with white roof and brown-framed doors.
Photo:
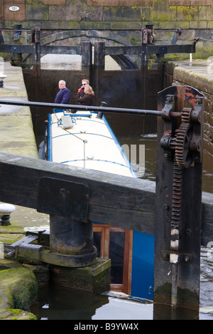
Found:
M 90 110 L 48 115 L 48 160 L 137 177 L 109 122 Z M 154 237 L 94 222 L 97 256 L 111 259 L 111 291 L 153 300 Z

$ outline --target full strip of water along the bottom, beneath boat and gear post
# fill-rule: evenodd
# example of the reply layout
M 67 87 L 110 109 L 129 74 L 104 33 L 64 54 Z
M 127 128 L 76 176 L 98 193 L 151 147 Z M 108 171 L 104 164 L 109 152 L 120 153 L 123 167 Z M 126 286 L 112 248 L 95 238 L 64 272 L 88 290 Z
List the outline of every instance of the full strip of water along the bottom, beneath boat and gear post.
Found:
M 213 320 L 212 314 L 153 304 L 122 293 L 97 296 L 51 285 L 40 289 L 31 312 L 38 320 Z

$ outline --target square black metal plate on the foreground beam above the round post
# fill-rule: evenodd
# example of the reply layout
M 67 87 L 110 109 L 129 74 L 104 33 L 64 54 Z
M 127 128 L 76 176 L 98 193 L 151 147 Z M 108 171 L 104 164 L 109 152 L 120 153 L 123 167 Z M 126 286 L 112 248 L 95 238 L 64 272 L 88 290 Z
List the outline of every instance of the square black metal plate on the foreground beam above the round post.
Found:
M 76 221 L 87 221 L 89 187 L 62 179 L 43 177 L 38 189 L 37 211 Z

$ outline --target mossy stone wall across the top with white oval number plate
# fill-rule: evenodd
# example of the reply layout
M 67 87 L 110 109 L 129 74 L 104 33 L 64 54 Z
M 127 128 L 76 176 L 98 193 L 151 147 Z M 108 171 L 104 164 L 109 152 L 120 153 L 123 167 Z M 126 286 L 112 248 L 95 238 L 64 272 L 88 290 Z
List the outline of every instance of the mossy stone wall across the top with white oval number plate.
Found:
M 14 6 L 13 0 L 2 0 L 0 19 L 2 28 L 39 26 L 44 36 L 73 30 L 89 38 L 84 31 L 109 31 L 136 44 L 146 24 L 153 25 L 156 43 L 170 43 L 180 28 L 180 43 L 200 37 L 196 57 L 207 58 L 213 53 L 212 1 L 185 0 L 183 6 L 182 0 L 16 0 Z

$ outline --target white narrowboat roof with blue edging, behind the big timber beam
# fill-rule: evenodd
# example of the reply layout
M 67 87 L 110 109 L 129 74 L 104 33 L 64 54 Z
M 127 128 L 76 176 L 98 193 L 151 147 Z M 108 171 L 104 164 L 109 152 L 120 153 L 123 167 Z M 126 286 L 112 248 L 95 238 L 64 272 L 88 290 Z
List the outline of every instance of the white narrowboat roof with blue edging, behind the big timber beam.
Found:
M 107 120 L 90 111 L 55 110 L 49 115 L 48 160 L 136 177 Z

